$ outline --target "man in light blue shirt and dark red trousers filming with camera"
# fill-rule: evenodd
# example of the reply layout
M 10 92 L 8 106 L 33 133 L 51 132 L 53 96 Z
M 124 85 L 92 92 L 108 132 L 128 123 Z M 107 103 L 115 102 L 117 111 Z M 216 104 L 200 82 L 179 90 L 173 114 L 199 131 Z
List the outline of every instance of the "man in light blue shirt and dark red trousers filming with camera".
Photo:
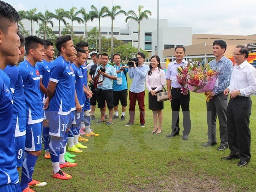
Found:
M 125 126 L 133 125 L 134 118 L 135 118 L 135 105 L 136 101 L 138 100 L 138 105 L 140 108 L 140 126 L 145 127 L 145 79 L 149 70 L 148 65 L 144 64 L 145 61 L 145 54 L 142 52 L 137 53 L 138 66 L 136 66 L 134 62 L 133 67 L 129 67 L 128 75 L 129 78 L 132 79 L 131 88 L 129 91 L 129 113 L 130 113 L 130 120 Z

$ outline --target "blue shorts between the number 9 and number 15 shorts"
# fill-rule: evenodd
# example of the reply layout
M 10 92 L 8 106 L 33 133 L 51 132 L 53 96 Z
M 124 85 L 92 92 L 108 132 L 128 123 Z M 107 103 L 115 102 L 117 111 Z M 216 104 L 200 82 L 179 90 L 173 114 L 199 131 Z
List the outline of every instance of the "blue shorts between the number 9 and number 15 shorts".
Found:
M 42 150 L 42 122 L 26 124 L 26 151 Z

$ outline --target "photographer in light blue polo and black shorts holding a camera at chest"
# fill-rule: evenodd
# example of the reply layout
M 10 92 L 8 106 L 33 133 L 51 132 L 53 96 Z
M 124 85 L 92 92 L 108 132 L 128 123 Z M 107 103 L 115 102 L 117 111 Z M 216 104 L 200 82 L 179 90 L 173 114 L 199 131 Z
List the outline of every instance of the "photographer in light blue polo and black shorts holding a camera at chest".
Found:
M 96 123 L 105 122 L 105 102 L 107 102 L 108 110 L 109 110 L 109 120 L 105 125 L 112 124 L 112 117 L 114 112 L 114 104 L 113 104 L 113 89 L 112 89 L 112 80 L 117 79 L 117 74 L 115 68 L 108 64 L 108 54 L 103 53 L 101 55 L 102 65 L 97 67 L 96 73 L 94 76 L 94 81 L 97 81 L 99 93 L 97 95 L 98 100 L 98 108 L 100 108 L 101 119 Z

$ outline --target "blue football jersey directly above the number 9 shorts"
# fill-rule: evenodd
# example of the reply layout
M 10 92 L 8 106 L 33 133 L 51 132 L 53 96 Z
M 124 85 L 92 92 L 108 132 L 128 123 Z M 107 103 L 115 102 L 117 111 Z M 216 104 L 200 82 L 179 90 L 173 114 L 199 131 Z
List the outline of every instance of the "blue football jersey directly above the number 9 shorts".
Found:
M 20 70 L 16 65 L 7 65 L 4 72 L 11 80 L 15 137 L 23 136 L 26 134 L 26 102 Z

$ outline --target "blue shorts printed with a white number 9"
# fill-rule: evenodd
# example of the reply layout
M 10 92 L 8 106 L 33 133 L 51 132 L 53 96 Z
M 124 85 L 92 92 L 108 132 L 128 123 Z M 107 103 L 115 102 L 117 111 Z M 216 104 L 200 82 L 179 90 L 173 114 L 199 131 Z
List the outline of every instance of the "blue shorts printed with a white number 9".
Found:
M 17 167 L 22 167 L 26 135 L 15 137 Z

